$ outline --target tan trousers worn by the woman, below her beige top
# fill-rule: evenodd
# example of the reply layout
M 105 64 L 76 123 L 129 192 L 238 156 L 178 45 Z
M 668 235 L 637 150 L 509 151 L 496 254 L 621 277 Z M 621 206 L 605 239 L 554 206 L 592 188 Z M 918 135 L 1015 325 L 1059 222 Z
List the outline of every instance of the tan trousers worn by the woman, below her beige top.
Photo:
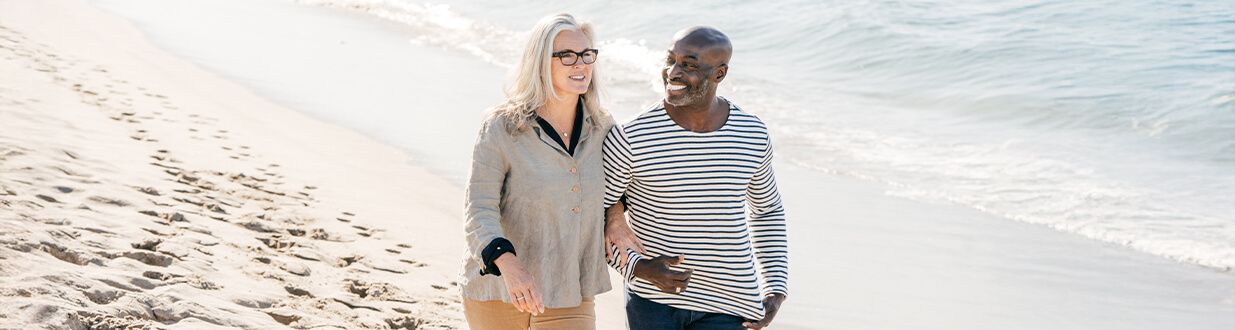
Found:
M 546 308 L 532 316 L 501 300 L 480 302 L 463 298 L 463 316 L 472 330 L 595 330 L 597 303 L 583 298 L 579 307 Z

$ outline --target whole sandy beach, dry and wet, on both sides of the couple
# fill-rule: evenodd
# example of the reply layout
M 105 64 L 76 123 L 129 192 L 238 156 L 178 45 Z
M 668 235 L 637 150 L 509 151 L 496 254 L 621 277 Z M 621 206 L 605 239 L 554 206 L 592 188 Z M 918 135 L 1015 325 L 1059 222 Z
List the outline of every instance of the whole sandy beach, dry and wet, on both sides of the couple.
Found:
M 301 2 L 0 0 L 0 329 L 466 328 L 462 182 L 506 68 Z M 656 96 L 624 93 L 619 119 Z M 777 166 L 772 329 L 1235 326 L 1230 269 Z

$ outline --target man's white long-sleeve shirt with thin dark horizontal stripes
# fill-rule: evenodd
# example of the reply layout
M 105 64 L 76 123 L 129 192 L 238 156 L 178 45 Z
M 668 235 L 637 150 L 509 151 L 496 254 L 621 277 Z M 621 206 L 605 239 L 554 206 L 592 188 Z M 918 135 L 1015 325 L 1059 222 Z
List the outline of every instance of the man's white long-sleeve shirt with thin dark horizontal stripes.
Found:
M 627 267 L 609 261 L 626 277 L 627 290 L 752 320 L 763 318 L 764 295 L 788 293 L 784 208 L 758 117 L 730 103 L 720 130 L 693 132 L 657 104 L 609 131 L 604 172 L 605 208 L 625 195 L 630 226 L 647 250 L 647 256 L 614 253 L 629 258 Z M 685 257 L 677 267 L 694 271 L 680 294 L 632 276 L 631 264 L 642 258 L 677 255 Z

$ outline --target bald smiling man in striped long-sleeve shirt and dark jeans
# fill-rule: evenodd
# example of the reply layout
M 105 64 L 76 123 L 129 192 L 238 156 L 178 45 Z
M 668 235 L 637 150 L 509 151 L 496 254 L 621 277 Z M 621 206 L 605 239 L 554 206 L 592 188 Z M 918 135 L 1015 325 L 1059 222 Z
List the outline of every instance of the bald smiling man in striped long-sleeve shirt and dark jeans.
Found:
M 716 96 L 731 54 L 715 28 L 678 32 L 661 70 L 664 100 L 604 142 L 605 208 L 625 198 L 642 243 L 609 248 L 626 278 L 631 329 L 762 329 L 785 299 L 788 240 L 767 127 Z M 620 206 L 608 221 L 606 231 L 629 232 Z

